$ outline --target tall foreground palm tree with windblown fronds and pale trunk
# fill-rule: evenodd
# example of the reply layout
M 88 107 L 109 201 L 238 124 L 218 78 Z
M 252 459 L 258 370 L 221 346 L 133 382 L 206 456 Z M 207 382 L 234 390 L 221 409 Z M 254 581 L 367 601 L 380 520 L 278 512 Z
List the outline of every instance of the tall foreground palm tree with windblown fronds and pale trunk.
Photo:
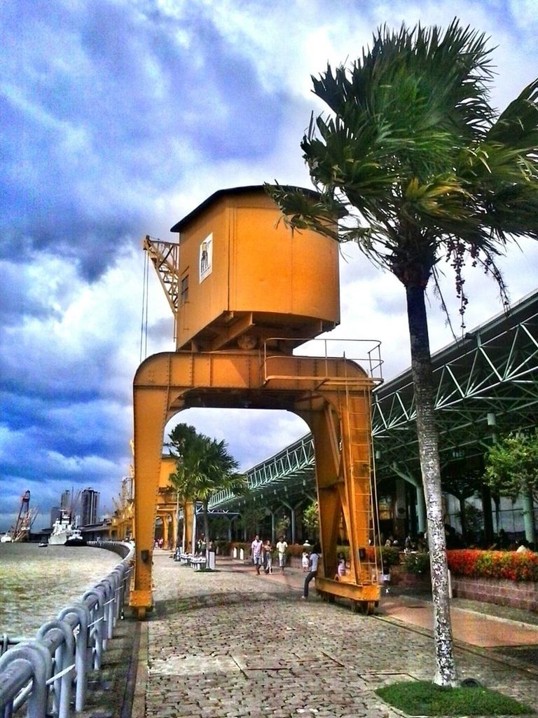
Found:
M 301 143 L 317 192 L 268 185 L 292 228 L 357 242 L 405 287 L 435 608 L 433 680 L 443 686 L 456 683 L 456 666 L 425 290 L 445 258 L 464 312 L 470 261 L 494 276 L 506 300 L 496 257 L 511 236 L 538 238 L 538 81 L 496 116 L 487 42 L 457 19 L 444 33 L 379 29 L 349 71 L 328 66 L 312 78 L 330 109 L 311 119 Z

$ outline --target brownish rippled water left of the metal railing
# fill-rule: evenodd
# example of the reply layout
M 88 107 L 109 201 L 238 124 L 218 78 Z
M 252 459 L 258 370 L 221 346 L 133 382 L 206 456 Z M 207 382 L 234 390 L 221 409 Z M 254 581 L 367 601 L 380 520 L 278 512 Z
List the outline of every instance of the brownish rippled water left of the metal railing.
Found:
M 0 635 L 32 637 L 120 561 L 90 546 L 0 544 Z

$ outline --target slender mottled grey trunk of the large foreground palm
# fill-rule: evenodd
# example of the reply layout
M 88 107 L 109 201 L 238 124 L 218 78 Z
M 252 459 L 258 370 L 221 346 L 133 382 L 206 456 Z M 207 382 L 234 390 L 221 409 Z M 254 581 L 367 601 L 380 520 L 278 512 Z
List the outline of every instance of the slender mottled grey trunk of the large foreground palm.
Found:
M 428 546 L 433 596 L 433 632 L 435 640 L 435 677 L 439 686 L 456 685 L 450 602 L 448 597 L 448 567 L 446 561 L 445 525 L 441 501 L 441 472 L 438 434 L 434 416 L 433 372 L 428 338 L 428 317 L 425 289 L 421 285 L 406 287 L 407 320 L 411 342 L 411 372 L 415 388 L 417 434 L 420 469 L 423 476 L 426 515 L 428 517 Z

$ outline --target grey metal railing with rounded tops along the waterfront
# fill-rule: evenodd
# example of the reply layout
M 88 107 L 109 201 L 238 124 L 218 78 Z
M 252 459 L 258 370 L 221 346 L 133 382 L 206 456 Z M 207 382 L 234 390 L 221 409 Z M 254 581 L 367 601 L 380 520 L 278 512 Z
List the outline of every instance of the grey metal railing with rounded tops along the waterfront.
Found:
M 98 671 L 108 640 L 128 599 L 133 546 L 125 558 L 82 598 L 47 621 L 34 639 L 0 638 L 0 717 L 11 718 L 26 704 L 27 718 L 69 718 L 85 707 L 88 673 Z

